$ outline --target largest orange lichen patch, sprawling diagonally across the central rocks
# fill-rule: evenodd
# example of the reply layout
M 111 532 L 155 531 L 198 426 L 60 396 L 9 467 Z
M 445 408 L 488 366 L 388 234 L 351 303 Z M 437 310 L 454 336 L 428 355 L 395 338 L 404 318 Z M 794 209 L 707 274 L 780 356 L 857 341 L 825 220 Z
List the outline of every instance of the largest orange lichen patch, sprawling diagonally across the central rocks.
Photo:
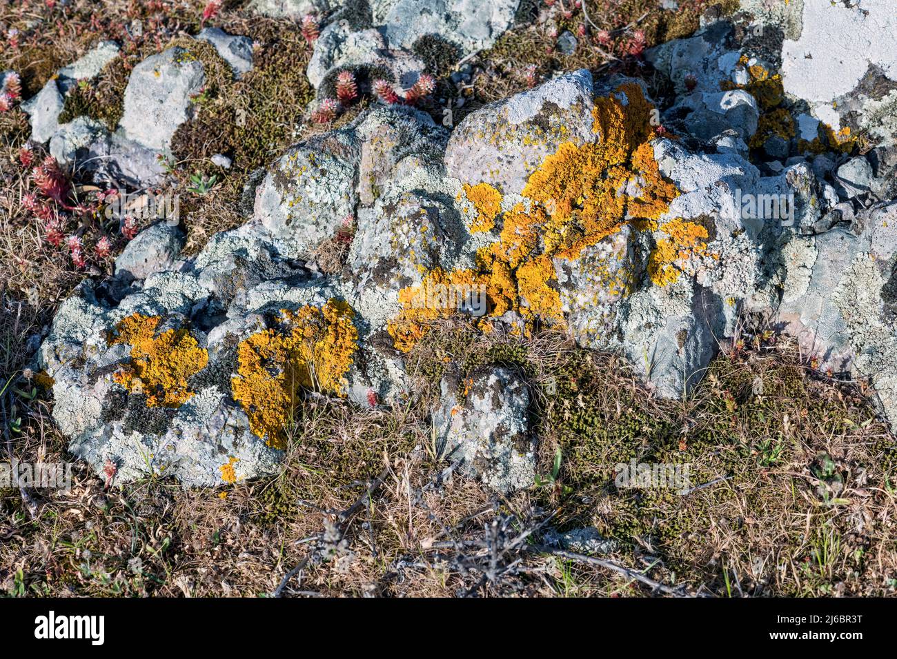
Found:
M 639 85 L 623 84 L 615 95 L 595 100 L 596 143 L 562 143 L 530 175 L 522 191 L 529 203 L 504 213 L 499 240 L 477 252 L 475 273 L 463 271 L 465 278 L 485 282 L 489 316 L 512 311 L 526 321 L 517 328 L 523 333 L 537 321 L 562 323 L 554 259 L 577 259 L 583 249 L 627 224 L 639 230 L 655 228 L 679 192 L 662 177 L 654 158 L 651 110 Z M 464 187 L 480 213 L 477 223 L 489 212 L 498 213 L 501 203 L 501 195 L 492 195 L 489 190 L 494 188 L 483 185 Z M 472 197 L 475 188 L 479 201 Z M 487 199 L 491 205 L 483 212 Z M 491 222 L 482 223 L 492 229 Z M 452 281 L 457 275 L 440 271 L 428 276 Z M 400 293 L 405 309 L 389 325 L 401 351 L 414 347 L 426 331 L 422 325 L 441 315 L 408 304 L 419 288 Z M 479 324 L 486 330 L 490 322 L 483 318 Z

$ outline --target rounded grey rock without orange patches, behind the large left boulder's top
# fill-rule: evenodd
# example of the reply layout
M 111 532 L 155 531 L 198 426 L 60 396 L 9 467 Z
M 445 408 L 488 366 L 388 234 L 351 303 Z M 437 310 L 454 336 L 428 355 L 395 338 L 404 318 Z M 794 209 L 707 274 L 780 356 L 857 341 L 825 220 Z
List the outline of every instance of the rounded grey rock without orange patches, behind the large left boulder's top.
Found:
M 292 147 L 258 186 L 253 217 L 285 254 L 308 254 L 353 218 L 360 159 L 360 144 L 349 131 Z

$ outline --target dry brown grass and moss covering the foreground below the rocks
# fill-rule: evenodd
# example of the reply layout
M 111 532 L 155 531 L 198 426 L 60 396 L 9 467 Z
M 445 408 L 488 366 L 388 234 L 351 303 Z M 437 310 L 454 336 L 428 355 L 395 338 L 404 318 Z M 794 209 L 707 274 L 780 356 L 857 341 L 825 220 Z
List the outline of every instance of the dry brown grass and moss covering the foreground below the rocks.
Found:
M 562 447 L 557 481 L 504 499 L 436 459 L 428 382 L 446 351 L 469 369 L 485 360 L 527 374 L 540 473 Z M 106 490 L 79 467 L 70 493 L 32 494 L 33 520 L 18 492 L 4 492 L 0 583 L 13 594 L 253 596 L 278 591 L 302 566 L 280 594 L 651 594 L 632 577 L 538 546 L 549 527 L 596 525 L 619 542 L 605 559 L 676 593 L 895 590 L 893 438 L 861 392 L 814 377 L 789 343 L 757 339 L 720 356 L 684 402 L 652 397 L 613 357 L 556 334 L 473 339 L 445 326 L 415 356 L 419 403 L 360 411 L 310 398 L 272 479 Z M 576 397 L 544 395 L 571 367 Z M 597 392 L 603 404 L 588 410 Z M 48 404 L 30 407 L 14 441 L 20 459 L 65 460 Z M 605 431 L 572 424 L 570 405 L 586 405 Z M 632 420 L 651 421 L 631 431 Z M 685 496 L 617 489 L 614 464 L 631 449 L 646 462 L 687 460 L 692 485 L 726 480 Z M 821 452 L 831 473 L 819 470 Z

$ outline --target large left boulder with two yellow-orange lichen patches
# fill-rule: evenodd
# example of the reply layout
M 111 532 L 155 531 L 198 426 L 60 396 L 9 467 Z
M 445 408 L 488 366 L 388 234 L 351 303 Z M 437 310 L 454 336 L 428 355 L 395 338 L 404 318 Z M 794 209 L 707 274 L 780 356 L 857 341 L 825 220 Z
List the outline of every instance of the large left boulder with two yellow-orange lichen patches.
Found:
M 265 235 L 222 234 L 136 290 L 84 282 L 59 309 L 39 365 L 54 419 L 97 473 L 185 486 L 272 473 L 300 388 L 344 392 L 352 308 Z

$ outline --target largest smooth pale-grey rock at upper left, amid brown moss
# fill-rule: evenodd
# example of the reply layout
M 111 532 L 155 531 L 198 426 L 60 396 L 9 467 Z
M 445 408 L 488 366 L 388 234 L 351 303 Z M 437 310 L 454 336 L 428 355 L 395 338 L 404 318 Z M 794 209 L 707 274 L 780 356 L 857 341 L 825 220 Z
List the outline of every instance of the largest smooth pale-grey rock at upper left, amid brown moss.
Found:
M 134 67 L 119 126 L 128 140 L 166 152 L 178 126 L 192 116 L 191 97 L 205 84 L 203 65 L 184 48 L 169 48 Z

